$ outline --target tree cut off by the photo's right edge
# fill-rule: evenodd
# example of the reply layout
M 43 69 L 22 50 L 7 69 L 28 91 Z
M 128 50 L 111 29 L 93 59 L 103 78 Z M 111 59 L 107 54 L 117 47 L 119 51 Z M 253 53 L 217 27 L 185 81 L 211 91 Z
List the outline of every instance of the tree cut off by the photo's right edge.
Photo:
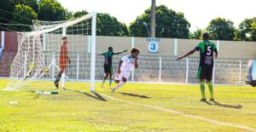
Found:
M 240 40 L 256 41 L 256 32 L 255 28 L 253 27 L 255 23 L 256 17 L 253 17 L 252 19 L 246 19 L 241 22 L 241 24 L 239 25 Z

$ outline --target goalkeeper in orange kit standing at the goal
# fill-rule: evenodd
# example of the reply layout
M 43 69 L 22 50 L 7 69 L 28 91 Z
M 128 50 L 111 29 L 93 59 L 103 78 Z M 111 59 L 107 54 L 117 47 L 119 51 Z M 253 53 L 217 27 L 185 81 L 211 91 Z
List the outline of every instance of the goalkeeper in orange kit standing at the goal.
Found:
M 59 81 L 61 79 L 62 73 L 67 69 L 67 61 L 70 64 L 70 59 L 68 58 L 68 49 L 67 49 L 67 37 L 61 37 L 61 51 L 60 51 L 60 71 L 57 74 L 57 77 L 54 81 L 56 89 L 59 89 Z M 64 88 L 63 88 L 64 89 Z

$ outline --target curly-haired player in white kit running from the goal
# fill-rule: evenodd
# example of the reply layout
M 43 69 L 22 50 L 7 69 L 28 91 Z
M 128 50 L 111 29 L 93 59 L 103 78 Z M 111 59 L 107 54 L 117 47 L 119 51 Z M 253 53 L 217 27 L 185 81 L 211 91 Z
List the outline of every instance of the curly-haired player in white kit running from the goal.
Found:
M 114 92 L 115 90 L 122 87 L 126 82 L 128 77 L 130 77 L 131 71 L 133 68 L 137 68 L 137 56 L 140 54 L 140 50 L 137 48 L 131 49 L 131 55 L 124 56 L 119 61 L 119 69 L 118 74 L 115 77 L 115 83 L 118 83 L 118 85 L 111 90 L 111 92 Z

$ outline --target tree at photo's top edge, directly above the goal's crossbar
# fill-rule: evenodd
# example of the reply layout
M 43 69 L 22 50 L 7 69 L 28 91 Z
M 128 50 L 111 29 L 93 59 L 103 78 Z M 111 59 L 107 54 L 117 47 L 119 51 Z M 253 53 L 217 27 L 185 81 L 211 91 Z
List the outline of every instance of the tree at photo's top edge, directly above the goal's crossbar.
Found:
M 56 0 L 39 0 L 38 19 L 46 21 L 59 21 L 68 19 L 68 11 Z

